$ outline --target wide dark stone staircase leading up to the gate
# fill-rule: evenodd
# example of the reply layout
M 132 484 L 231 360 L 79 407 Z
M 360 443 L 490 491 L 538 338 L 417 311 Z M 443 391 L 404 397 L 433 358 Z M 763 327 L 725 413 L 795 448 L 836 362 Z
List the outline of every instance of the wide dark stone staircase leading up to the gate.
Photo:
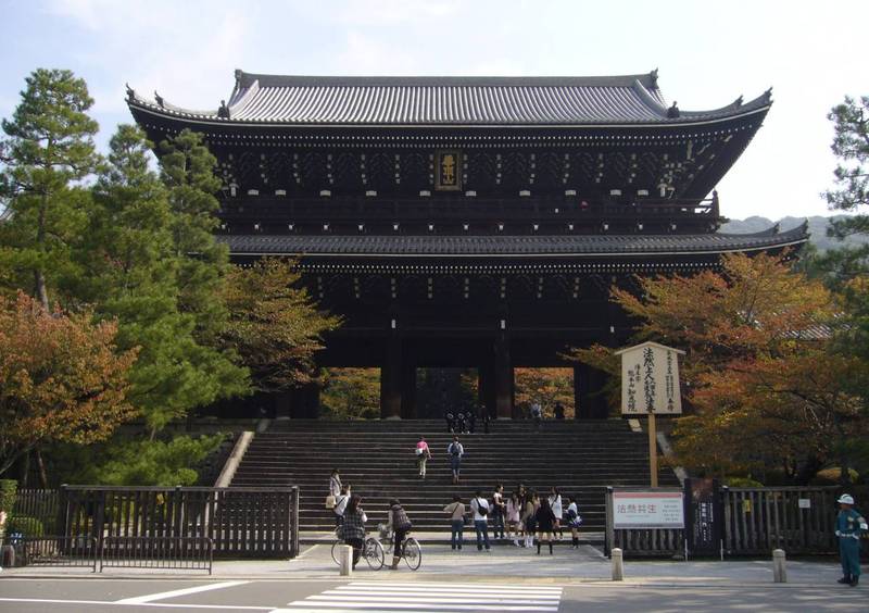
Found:
M 478 424 L 479 425 L 479 424 Z M 417 476 L 414 448 L 426 437 L 433 458 L 428 476 Z M 275 422 L 251 442 L 232 486 L 298 485 L 300 528 L 328 530 L 333 515 L 325 509 L 329 474 L 341 472 L 344 484 L 363 497 L 369 522 L 385 522 L 388 501 L 399 498 L 417 530 L 446 531 L 442 509 L 454 493 L 465 503 L 481 489 L 491 499 L 496 483 L 505 492 L 524 484 L 539 492 L 557 486 L 565 499 L 578 499 L 583 531 L 605 526 L 606 486 L 647 486 L 647 435 L 633 433 L 622 420 L 495 422 L 490 434 L 461 436 L 465 448 L 462 483 L 452 485 L 446 447 L 452 436 L 442 421 Z M 659 484 L 678 486 L 669 468 Z

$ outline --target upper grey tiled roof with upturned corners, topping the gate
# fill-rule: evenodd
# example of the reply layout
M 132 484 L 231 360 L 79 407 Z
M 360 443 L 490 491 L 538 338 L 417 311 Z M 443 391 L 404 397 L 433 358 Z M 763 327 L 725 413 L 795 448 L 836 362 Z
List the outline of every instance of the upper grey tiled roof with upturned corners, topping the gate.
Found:
M 610 77 L 310 77 L 236 72 L 223 112 L 130 93 L 130 105 L 226 123 L 287 125 L 680 124 L 768 108 L 770 95 L 668 116 L 657 73 Z

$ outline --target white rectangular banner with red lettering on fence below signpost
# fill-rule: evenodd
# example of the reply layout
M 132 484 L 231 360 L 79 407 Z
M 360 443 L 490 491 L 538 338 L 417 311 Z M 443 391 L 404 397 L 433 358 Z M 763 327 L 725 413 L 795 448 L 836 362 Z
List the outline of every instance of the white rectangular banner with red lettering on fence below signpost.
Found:
M 681 491 L 614 491 L 613 527 L 683 528 L 683 500 Z

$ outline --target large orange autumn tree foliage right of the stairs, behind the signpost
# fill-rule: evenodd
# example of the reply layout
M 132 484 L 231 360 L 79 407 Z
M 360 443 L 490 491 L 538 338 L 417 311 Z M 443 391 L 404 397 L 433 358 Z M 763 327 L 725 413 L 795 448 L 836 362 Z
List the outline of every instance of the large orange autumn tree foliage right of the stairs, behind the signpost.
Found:
M 638 278 L 612 297 L 637 323 L 635 340 L 687 351 L 677 461 L 717 476 L 783 474 L 806 483 L 865 431 L 844 381 L 866 364 L 832 348 L 841 305 L 785 258 L 728 255 L 720 273 Z M 613 372 L 606 348 L 578 352 Z

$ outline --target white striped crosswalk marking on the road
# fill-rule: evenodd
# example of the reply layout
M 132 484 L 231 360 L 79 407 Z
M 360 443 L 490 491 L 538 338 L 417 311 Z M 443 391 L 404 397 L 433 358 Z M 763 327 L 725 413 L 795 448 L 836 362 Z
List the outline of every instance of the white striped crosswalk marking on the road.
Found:
M 495 584 L 352 583 L 288 603 L 272 613 L 557 612 L 562 588 Z

